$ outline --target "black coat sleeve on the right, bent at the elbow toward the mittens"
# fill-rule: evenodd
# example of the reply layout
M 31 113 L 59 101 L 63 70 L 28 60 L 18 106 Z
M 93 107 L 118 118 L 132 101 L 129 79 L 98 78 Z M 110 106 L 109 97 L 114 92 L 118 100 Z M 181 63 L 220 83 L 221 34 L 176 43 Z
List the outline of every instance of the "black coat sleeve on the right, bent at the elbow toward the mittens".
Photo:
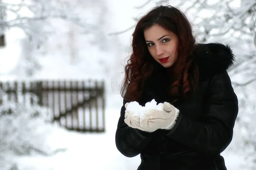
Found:
M 216 155 L 230 144 L 238 114 L 238 99 L 227 71 L 212 77 L 206 95 L 202 119 L 195 122 L 181 112 L 167 136 L 198 153 Z

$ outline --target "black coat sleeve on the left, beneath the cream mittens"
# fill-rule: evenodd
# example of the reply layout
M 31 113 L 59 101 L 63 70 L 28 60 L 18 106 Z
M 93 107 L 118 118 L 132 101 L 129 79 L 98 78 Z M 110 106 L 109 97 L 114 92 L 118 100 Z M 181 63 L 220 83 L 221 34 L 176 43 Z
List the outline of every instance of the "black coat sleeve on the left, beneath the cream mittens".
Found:
M 116 130 L 116 147 L 117 149 L 127 157 L 134 157 L 139 155 L 146 145 L 154 137 L 154 133 L 144 132 L 139 129 L 129 127 L 125 122 L 125 103 L 121 108 L 121 115 L 118 121 Z

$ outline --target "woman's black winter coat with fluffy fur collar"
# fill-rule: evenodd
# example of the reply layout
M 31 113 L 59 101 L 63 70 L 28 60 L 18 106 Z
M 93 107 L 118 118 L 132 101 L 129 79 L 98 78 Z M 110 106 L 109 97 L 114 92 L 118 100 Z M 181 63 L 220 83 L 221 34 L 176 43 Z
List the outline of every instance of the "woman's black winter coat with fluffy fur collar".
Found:
M 194 50 L 200 78 L 189 99 L 174 106 L 180 110 L 171 130 L 153 133 L 128 127 L 125 103 L 116 130 L 116 147 L 127 157 L 140 154 L 138 170 L 227 170 L 220 153 L 230 144 L 238 114 L 238 99 L 227 69 L 234 55 L 228 46 L 210 43 Z M 172 102 L 166 75 L 154 72 L 145 83 L 141 105 L 155 99 Z

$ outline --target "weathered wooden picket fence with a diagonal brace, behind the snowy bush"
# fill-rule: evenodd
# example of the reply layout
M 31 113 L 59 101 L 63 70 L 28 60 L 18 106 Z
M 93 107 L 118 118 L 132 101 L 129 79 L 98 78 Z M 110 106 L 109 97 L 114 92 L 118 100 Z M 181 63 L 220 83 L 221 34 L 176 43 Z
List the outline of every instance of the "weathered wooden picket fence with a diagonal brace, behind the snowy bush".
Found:
M 52 121 L 69 130 L 104 132 L 105 98 L 101 81 L 0 82 L 9 99 L 17 99 L 17 89 L 38 96 L 38 104 L 50 108 Z M 29 98 L 26 99 L 26 101 Z M 32 100 L 29 101 L 32 104 Z

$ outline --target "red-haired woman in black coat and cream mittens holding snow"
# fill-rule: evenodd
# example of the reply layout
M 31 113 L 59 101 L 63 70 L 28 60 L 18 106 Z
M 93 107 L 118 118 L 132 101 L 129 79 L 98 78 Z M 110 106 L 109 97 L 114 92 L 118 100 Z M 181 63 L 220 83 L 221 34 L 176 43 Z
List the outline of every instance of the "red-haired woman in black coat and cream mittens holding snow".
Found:
M 227 170 L 220 153 L 230 144 L 238 99 L 227 69 L 235 60 L 229 46 L 195 44 L 185 15 L 158 6 L 142 17 L 125 66 L 124 97 L 116 147 L 140 154 L 138 170 Z M 155 99 L 163 110 L 143 118 L 126 110 Z

